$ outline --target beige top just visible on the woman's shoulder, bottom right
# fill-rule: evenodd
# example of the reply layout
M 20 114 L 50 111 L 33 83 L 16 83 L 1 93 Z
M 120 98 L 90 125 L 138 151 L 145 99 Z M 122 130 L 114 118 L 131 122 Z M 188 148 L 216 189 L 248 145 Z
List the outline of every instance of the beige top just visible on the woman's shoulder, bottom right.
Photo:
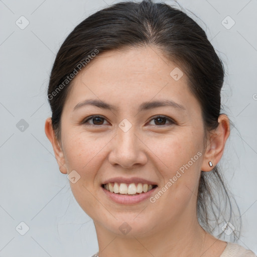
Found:
M 98 257 L 98 252 L 92 257 Z M 257 257 L 253 251 L 245 249 L 243 246 L 227 242 L 227 246 L 221 253 L 220 257 Z

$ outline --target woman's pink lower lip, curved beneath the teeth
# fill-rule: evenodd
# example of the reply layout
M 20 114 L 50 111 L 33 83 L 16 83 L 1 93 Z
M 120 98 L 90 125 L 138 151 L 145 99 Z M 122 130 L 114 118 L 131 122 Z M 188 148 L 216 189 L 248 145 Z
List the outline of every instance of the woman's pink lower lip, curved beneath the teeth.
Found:
M 101 189 L 107 195 L 107 197 L 109 197 L 112 201 L 116 203 L 121 203 L 121 204 L 134 204 L 134 203 L 142 202 L 150 198 L 150 196 L 155 192 L 157 188 L 158 187 L 155 187 L 146 193 L 141 193 L 138 195 L 127 195 L 127 194 L 119 195 L 119 194 L 111 193 L 110 191 L 101 187 Z

